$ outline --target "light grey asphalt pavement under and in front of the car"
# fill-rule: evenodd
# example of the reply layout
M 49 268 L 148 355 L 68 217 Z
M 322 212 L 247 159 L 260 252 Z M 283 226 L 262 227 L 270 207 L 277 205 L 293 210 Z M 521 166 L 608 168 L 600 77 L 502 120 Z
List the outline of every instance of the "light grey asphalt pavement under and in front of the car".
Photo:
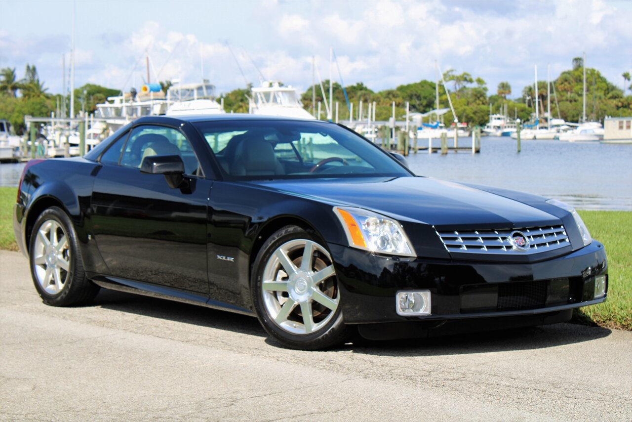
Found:
M 102 290 L 42 304 L 0 251 L 0 420 L 632 419 L 632 332 L 557 324 L 326 352 L 255 318 Z

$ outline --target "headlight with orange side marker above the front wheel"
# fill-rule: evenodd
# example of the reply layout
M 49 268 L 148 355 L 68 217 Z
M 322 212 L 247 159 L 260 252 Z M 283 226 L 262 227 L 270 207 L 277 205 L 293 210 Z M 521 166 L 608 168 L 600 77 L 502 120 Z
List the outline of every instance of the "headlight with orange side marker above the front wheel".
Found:
M 391 255 L 416 256 L 398 221 L 360 208 L 334 207 L 349 246 Z

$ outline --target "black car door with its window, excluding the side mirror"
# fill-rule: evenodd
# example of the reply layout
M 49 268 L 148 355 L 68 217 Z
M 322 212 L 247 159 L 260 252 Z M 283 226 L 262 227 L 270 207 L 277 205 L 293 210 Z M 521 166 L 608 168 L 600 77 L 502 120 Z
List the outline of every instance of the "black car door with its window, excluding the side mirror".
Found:
M 140 172 L 143 158 L 179 155 L 186 186 Z M 104 152 L 92 193 L 92 221 L 111 276 L 208 294 L 207 203 L 191 142 L 180 130 L 140 125 Z

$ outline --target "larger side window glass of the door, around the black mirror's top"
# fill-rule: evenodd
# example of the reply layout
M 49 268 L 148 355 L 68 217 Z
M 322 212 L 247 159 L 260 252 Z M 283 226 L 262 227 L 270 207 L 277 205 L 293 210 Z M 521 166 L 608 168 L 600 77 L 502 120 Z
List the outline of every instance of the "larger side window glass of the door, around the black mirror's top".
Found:
M 193 147 L 185 135 L 173 128 L 139 126 L 130 133 L 121 156 L 121 166 L 140 168 L 145 157 L 177 155 L 185 163 L 185 173 L 202 175 Z

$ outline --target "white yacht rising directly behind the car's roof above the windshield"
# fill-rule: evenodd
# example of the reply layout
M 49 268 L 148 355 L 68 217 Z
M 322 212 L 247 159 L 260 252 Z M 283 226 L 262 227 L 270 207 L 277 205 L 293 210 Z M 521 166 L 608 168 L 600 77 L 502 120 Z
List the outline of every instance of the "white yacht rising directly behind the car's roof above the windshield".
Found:
M 248 109 L 253 115 L 315 119 L 301 105 L 295 88 L 282 87 L 276 81 L 266 81 L 261 87 L 253 88 Z

